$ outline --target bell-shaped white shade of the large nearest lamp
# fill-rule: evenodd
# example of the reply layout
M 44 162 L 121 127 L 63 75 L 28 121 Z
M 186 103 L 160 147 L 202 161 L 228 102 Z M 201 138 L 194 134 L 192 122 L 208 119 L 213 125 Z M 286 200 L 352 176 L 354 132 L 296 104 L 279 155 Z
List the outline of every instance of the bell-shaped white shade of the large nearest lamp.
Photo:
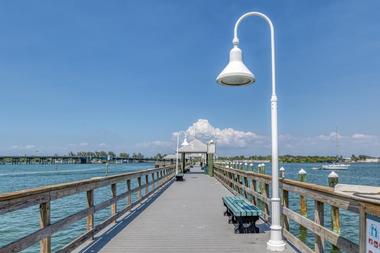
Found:
M 230 61 L 216 78 L 217 83 L 226 86 L 243 86 L 256 81 L 255 76 L 245 66 L 240 48 L 234 46 L 230 51 Z

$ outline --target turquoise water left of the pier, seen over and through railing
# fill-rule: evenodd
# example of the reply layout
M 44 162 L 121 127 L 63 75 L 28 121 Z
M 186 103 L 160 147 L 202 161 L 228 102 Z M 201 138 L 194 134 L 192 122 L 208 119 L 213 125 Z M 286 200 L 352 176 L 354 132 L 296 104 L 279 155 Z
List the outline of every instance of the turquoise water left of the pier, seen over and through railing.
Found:
M 140 169 L 153 168 L 152 163 L 111 164 L 108 175 L 120 174 Z M 57 165 L 1 165 L 0 193 L 12 192 L 43 185 L 72 182 L 105 176 L 104 164 L 57 164 Z M 144 182 L 143 182 L 144 183 Z M 137 185 L 131 182 L 132 188 Z M 126 191 L 126 184 L 117 184 L 118 193 Z M 95 204 L 111 198 L 110 187 L 96 189 Z M 132 196 L 135 199 L 136 196 Z M 86 208 L 86 193 L 68 196 L 51 202 L 52 223 Z M 118 210 L 126 205 L 126 201 L 118 202 Z M 95 214 L 95 224 L 100 224 L 111 215 L 111 208 Z M 30 234 L 39 229 L 39 208 L 32 206 L 0 216 L 0 246 Z M 86 232 L 86 220 L 82 219 L 52 237 L 53 252 L 63 247 L 80 234 Z M 23 252 L 39 252 L 39 244 Z

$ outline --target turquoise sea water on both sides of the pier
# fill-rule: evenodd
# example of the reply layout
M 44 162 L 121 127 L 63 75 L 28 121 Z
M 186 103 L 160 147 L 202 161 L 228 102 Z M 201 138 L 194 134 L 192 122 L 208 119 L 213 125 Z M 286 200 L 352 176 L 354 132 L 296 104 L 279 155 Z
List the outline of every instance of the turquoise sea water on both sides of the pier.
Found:
M 327 185 L 327 175 L 331 171 L 314 170 L 320 164 L 282 164 L 286 169 L 286 178 L 297 179 L 297 172 L 303 168 L 307 171 L 307 181 L 320 185 Z M 109 174 L 119 174 L 129 171 L 152 168 L 152 163 L 118 164 L 110 165 Z M 267 173 L 270 174 L 270 166 L 267 165 Z M 380 164 L 352 164 L 348 170 L 338 171 L 339 182 L 347 184 L 363 184 L 380 186 Z M 105 165 L 94 164 L 57 164 L 57 165 L 0 165 L 0 193 L 17 191 L 42 185 L 51 185 L 63 182 L 77 181 L 105 175 Z M 132 182 L 133 187 L 136 182 Z M 118 184 L 118 192 L 125 191 L 125 184 Z M 95 204 L 111 197 L 109 187 L 95 190 Z M 299 197 L 290 194 L 290 207 L 298 210 Z M 120 202 L 118 209 L 123 208 L 125 202 Z M 86 207 L 85 193 L 65 197 L 52 201 L 52 222 L 62 219 Z M 313 218 L 314 202 L 308 200 L 308 216 Z M 95 214 L 95 224 L 99 224 L 110 216 L 110 208 Z M 330 207 L 325 206 L 325 226 L 331 227 Z M 67 227 L 52 237 L 53 251 L 66 245 L 68 242 L 85 232 L 85 219 Z M 0 245 L 19 239 L 39 228 L 38 206 L 22 209 L 0 216 Z M 357 214 L 341 210 L 341 233 L 354 241 L 358 241 Z M 291 223 L 291 231 L 298 234 L 298 225 Z M 309 245 L 313 245 L 314 237 L 306 235 Z M 39 245 L 24 252 L 38 252 Z

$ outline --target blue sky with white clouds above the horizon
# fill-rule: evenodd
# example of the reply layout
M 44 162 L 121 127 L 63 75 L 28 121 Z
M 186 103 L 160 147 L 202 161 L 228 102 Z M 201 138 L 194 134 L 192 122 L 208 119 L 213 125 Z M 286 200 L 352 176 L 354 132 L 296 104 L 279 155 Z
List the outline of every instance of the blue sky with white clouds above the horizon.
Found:
M 220 87 L 233 25 L 276 29 L 280 152 L 380 156 L 380 2 L 3 1 L 1 154 L 174 151 L 173 133 L 222 154 L 269 154 L 268 28 L 240 46 L 257 82 Z M 191 137 L 191 136 L 190 136 Z M 37 152 L 38 151 L 38 152 Z

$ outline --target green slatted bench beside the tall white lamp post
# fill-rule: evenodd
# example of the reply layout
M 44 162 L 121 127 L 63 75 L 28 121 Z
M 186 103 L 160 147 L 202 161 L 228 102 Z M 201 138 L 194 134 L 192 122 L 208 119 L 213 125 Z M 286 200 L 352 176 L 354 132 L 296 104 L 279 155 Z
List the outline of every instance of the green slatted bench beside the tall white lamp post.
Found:
M 235 224 L 235 233 L 258 233 L 256 221 L 262 215 L 259 208 L 241 196 L 225 196 L 222 198 L 226 207 L 228 223 Z

